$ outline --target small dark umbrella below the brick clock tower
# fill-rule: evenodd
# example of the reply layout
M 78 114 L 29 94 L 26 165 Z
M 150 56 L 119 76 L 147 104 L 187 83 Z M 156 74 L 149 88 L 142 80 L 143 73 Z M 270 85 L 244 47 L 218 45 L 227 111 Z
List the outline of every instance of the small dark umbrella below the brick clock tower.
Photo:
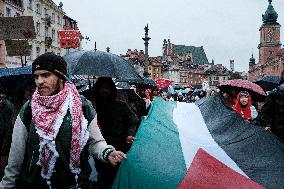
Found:
M 279 76 L 264 76 L 256 81 L 255 84 L 258 84 L 266 91 L 272 91 L 280 84 L 281 78 Z

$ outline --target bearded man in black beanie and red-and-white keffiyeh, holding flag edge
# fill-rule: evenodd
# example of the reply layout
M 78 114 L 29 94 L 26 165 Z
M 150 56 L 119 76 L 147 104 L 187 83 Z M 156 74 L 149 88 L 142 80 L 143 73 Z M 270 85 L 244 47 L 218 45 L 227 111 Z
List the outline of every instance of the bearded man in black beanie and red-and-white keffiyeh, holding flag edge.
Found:
M 113 166 L 125 154 L 107 145 L 92 104 L 66 82 L 67 64 L 53 53 L 32 65 L 36 91 L 15 122 L 0 188 L 86 188 L 88 156 Z

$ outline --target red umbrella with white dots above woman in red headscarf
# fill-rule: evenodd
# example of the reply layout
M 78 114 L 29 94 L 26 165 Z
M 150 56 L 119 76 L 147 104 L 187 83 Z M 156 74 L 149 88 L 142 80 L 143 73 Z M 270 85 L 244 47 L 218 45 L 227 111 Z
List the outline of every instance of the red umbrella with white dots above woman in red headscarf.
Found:
M 222 92 L 227 93 L 232 93 L 232 91 L 238 93 L 242 90 L 246 90 L 250 93 L 254 101 L 263 101 L 266 97 L 265 91 L 259 85 L 248 80 L 227 80 L 221 83 L 218 87 Z

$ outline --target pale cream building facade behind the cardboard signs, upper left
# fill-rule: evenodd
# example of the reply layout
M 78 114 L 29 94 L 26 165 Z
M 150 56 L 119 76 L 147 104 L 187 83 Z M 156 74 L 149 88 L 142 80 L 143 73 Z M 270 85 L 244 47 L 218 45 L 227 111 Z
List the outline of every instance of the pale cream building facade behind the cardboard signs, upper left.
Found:
M 24 0 L 24 9 L 25 16 L 33 16 L 36 32 L 27 64 L 46 52 L 64 56 L 66 50 L 60 48 L 59 41 L 59 30 L 64 27 L 62 4 L 57 6 L 52 0 Z

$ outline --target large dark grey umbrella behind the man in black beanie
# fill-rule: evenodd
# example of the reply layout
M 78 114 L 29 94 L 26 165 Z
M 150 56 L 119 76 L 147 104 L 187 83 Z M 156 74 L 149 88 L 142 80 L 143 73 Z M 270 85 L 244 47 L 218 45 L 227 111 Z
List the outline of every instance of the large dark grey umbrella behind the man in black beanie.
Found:
M 120 56 L 102 51 L 78 51 L 66 55 L 70 75 L 112 77 L 123 81 L 142 80 L 135 68 Z

